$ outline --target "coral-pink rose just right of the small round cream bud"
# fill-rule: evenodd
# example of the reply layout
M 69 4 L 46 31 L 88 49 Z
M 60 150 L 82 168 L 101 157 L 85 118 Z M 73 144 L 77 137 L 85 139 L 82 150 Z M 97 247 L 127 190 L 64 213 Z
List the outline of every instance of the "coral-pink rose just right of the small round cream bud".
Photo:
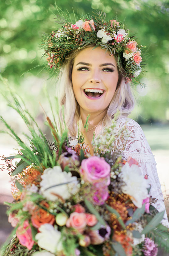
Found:
M 70 218 L 66 221 L 66 227 L 75 228 L 79 232 L 83 232 L 87 225 L 87 219 L 85 213 L 73 212 L 70 214 Z

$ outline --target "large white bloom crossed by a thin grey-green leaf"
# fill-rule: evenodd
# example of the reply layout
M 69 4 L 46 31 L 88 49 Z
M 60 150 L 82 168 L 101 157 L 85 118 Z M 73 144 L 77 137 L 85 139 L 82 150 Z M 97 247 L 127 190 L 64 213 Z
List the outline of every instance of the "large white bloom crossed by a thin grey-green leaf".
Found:
M 40 191 L 43 196 L 45 196 L 48 200 L 51 201 L 59 199 L 57 195 L 61 196 L 63 199 L 68 199 L 71 196 L 71 194 L 74 194 L 78 191 L 77 177 L 72 177 L 71 172 L 62 172 L 60 166 L 54 166 L 53 169 L 47 168 L 41 175 L 41 179 L 42 181 L 40 182 Z M 52 193 L 57 195 L 54 195 Z

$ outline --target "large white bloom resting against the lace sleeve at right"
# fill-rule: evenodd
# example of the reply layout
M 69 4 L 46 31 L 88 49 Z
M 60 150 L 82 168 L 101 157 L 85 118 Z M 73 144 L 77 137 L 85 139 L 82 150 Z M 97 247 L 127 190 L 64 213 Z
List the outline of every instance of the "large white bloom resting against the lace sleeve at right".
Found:
M 144 179 L 144 175 L 141 169 L 136 165 L 126 163 L 121 168 L 120 178 L 125 182 L 124 186 L 121 186 L 121 190 L 124 194 L 132 196 L 132 202 L 138 208 L 142 207 L 143 199 L 148 197 L 147 188 L 149 188 L 148 180 Z

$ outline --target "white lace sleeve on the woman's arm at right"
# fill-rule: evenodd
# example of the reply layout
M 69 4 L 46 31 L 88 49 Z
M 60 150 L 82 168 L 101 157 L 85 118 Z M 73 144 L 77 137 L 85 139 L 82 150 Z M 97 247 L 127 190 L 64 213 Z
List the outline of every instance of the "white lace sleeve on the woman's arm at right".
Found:
M 148 175 L 148 180 L 151 185 L 150 195 L 158 199 L 153 205 L 159 212 L 162 212 L 165 210 L 164 198 L 151 148 L 139 124 L 132 119 L 122 118 L 117 130 L 121 130 L 124 125 L 126 125 L 126 129 L 130 132 L 129 138 L 125 139 L 124 137 L 121 138 L 117 136 L 116 147 L 121 148 L 125 145 L 123 147 L 124 150 L 121 152 L 123 159 L 127 160 L 128 157 L 131 156 L 140 163 L 143 175 Z M 162 224 L 169 227 L 166 211 Z

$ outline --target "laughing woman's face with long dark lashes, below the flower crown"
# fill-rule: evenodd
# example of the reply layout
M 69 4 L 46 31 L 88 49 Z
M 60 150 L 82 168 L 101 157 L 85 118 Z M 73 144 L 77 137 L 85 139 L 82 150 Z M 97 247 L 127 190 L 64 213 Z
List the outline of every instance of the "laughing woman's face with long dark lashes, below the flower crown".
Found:
M 114 56 L 97 47 L 80 51 L 72 69 L 72 85 L 80 111 L 102 112 L 113 98 L 118 82 Z

